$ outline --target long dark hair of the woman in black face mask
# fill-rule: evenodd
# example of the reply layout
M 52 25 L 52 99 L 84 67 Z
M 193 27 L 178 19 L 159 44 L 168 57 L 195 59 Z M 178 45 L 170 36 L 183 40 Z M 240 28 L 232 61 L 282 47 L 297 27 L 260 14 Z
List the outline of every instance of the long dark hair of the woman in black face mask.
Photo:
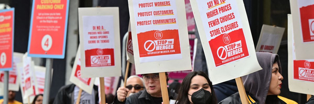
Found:
M 217 98 L 214 92 L 214 88 L 213 88 L 213 84 L 212 82 L 209 80 L 208 76 L 201 71 L 197 71 L 197 72 L 190 72 L 182 81 L 181 83 L 181 87 L 179 88 L 179 93 L 178 93 L 178 97 L 176 99 L 176 103 L 175 104 L 190 104 L 189 98 L 187 97 L 187 93 L 190 89 L 190 84 L 191 84 L 191 80 L 194 76 L 199 75 L 199 76 L 203 76 L 205 77 L 205 79 L 207 80 L 210 90 L 212 91 L 212 102 L 210 104 L 217 104 Z

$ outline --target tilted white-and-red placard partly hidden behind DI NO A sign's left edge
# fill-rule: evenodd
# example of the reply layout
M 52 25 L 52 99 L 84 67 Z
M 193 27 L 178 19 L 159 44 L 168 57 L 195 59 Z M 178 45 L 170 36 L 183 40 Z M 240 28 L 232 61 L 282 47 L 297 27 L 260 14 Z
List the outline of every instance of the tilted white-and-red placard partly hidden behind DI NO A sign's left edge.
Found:
M 82 78 L 81 77 L 81 54 L 80 46 L 78 46 L 78 51 L 76 52 L 76 57 L 74 65 L 72 68 L 72 73 L 70 77 L 70 82 L 84 90 L 85 92 L 92 94 L 95 78 Z

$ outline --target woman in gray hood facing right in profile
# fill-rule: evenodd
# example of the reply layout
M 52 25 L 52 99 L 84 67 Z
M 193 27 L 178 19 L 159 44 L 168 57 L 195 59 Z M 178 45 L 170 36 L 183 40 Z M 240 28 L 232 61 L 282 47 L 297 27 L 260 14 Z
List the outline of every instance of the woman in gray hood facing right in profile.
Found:
M 286 104 L 277 96 L 284 78 L 281 76 L 279 56 L 268 52 L 256 52 L 259 65 L 263 68 L 242 77 L 249 104 Z M 219 104 L 241 104 L 239 92 L 227 97 Z

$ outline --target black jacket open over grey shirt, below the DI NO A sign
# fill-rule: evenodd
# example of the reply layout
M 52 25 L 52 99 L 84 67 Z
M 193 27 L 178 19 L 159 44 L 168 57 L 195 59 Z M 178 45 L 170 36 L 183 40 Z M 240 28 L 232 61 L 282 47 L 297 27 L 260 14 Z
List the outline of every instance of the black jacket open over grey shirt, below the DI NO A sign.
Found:
M 62 86 L 58 91 L 53 104 L 73 104 L 74 87 L 74 84 Z M 98 104 L 98 87 L 94 85 L 93 90 L 95 92 L 95 104 Z

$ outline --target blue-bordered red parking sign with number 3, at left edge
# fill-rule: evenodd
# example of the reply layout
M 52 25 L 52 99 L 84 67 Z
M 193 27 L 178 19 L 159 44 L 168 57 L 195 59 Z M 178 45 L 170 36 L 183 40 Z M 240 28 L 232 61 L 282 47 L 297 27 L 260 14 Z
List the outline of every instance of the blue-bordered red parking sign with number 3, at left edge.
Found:
M 0 71 L 13 67 L 14 8 L 0 10 Z

